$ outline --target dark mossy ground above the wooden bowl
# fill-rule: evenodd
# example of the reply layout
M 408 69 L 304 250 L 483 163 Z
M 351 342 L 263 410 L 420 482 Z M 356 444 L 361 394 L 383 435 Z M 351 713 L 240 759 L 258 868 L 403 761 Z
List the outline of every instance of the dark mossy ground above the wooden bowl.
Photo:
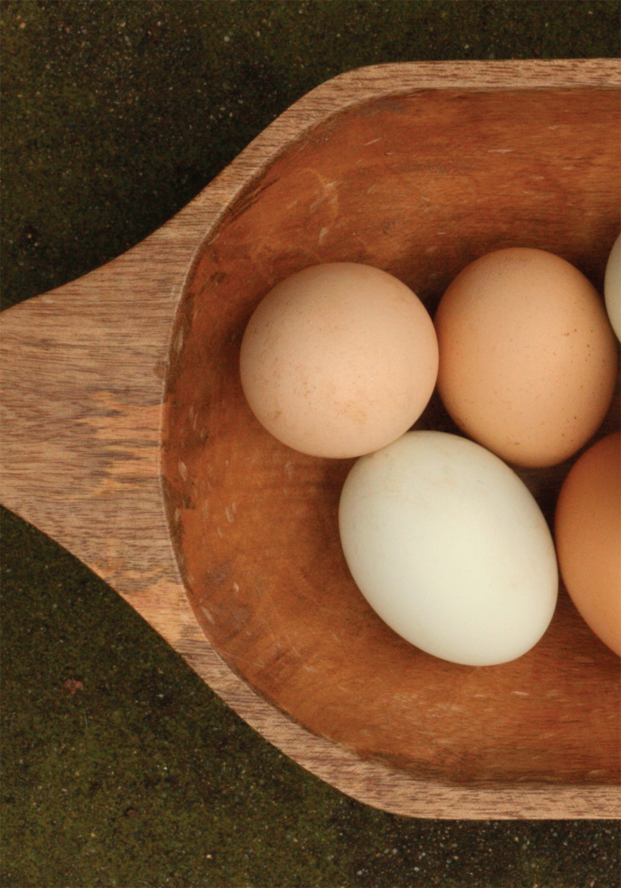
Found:
M 127 250 L 291 102 L 354 67 L 616 56 L 578 2 L 5 2 L 2 305 Z

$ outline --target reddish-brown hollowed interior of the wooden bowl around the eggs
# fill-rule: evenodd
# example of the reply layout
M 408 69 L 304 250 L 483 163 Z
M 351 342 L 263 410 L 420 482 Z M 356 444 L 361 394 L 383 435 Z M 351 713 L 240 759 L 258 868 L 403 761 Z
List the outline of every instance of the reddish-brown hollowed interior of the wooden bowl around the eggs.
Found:
M 364 262 L 433 314 L 490 250 L 530 246 L 601 289 L 619 230 L 614 91 L 416 91 L 331 116 L 273 160 L 201 250 L 170 353 L 163 475 L 187 594 L 226 662 L 312 733 L 440 781 L 606 783 L 619 661 L 561 591 L 546 636 L 495 667 L 443 662 L 366 604 L 342 556 L 353 460 L 271 438 L 241 392 L 255 305 L 306 266 Z M 603 431 L 618 426 L 613 408 Z M 417 427 L 456 432 L 436 395 Z M 522 472 L 546 517 L 568 464 Z

